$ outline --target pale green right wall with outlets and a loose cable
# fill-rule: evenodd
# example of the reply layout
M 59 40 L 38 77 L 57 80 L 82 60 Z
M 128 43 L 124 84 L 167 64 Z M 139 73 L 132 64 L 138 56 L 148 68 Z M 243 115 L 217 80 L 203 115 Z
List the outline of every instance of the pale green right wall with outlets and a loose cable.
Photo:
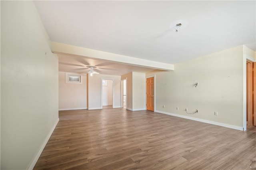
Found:
M 242 45 L 175 64 L 174 71 L 154 73 L 156 111 L 243 127 Z M 199 113 L 189 115 L 185 108 Z

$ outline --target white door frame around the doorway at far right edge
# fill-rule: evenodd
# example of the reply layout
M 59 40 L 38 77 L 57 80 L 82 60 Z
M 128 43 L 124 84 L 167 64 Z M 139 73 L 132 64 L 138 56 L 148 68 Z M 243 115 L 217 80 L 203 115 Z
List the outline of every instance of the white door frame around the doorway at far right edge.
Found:
M 246 62 L 247 60 L 256 62 L 256 59 L 254 59 L 253 57 L 246 54 L 243 55 L 243 130 L 244 131 L 246 131 L 246 103 L 247 103 Z

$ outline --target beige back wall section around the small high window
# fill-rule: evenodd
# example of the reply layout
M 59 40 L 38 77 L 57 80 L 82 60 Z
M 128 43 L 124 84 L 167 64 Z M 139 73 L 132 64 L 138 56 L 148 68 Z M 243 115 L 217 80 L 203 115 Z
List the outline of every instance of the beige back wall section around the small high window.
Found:
M 59 72 L 59 110 L 87 109 L 87 80 L 82 74 L 82 84 L 66 83 L 66 73 Z

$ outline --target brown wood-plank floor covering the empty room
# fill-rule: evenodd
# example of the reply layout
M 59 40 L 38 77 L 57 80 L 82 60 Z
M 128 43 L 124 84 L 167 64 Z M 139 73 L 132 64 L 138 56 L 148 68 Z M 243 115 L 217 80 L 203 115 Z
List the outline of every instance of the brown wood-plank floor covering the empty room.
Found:
M 34 170 L 252 170 L 256 127 L 243 132 L 151 111 L 60 111 Z M 230 118 L 231 119 L 231 118 Z

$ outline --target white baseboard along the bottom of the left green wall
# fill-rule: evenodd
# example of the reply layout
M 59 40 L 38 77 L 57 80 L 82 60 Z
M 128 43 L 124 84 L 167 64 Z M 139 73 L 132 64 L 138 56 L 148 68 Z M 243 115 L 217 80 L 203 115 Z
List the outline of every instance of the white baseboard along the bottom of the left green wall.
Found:
M 59 122 L 59 118 L 57 119 L 56 123 L 54 124 L 54 126 L 52 127 L 52 129 L 50 130 L 49 134 L 46 136 L 44 142 L 42 143 L 41 147 L 39 148 L 38 152 L 36 153 L 35 157 L 32 159 L 32 161 L 30 162 L 30 165 L 28 166 L 28 170 L 32 170 L 34 168 L 34 166 L 36 165 L 36 162 L 38 160 L 38 158 L 40 157 L 40 155 L 42 154 L 44 147 L 46 146 L 48 140 L 50 139 L 52 132 L 54 131 L 55 127 L 57 126 L 58 122 Z

